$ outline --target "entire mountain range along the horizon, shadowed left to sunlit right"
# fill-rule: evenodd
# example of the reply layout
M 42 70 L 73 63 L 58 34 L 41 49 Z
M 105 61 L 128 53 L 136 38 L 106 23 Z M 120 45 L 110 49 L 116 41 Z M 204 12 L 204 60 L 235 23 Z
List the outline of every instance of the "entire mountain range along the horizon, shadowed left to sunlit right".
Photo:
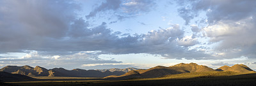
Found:
M 108 79 L 124 80 L 129 78 L 157 78 L 165 75 L 175 75 L 181 73 L 200 73 L 200 72 L 217 72 L 217 71 L 232 71 L 236 73 L 253 73 L 252 69 L 244 64 L 236 64 L 234 66 L 222 66 L 218 69 L 212 69 L 207 66 L 198 65 L 196 63 L 176 64 L 174 66 L 156 66 L 150 69 L 72 69 L 64 68 L 45 69 L 40 66 L 35 68 L 31 66 L 6 66 L 0 71 L 12 74 L 20 74 L 26 76 L 69 76 L 69 77 L 104 77 Z

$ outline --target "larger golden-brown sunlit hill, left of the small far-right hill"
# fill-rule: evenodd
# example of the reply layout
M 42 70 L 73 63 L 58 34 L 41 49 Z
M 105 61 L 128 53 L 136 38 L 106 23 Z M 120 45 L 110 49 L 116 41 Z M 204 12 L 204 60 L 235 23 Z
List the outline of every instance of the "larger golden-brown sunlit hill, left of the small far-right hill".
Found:
M 170 67 L 156 66 L 150 69 L 138 69 L 135 71 L 130 71 L 120 76 L 107 76 L 105 78 L 122 78 L 122 79 L 156 78 L 164 75 L 175 75 L 180 73 L 194 73 L 194 72 L 215 71 L 215 70 L 212 68 L 208 68 L 207 66 L 198 65 L 195 63 L 190 63 L 190 64 L 180 63 Z

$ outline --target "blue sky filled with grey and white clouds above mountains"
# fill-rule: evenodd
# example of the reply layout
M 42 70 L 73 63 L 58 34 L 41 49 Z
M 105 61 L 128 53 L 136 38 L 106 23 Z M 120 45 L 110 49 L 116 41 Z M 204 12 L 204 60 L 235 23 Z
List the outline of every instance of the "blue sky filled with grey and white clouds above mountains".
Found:
M 255 0 L 0 0 L 0 68 L 256 70 Z

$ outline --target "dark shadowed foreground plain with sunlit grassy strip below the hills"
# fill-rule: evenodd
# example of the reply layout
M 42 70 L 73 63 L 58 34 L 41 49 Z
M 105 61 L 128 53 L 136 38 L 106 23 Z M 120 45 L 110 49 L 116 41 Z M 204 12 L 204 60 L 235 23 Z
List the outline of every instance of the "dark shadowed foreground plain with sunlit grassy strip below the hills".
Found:
M 4 82 L 2 85 L 256 85 L 256 73 L 205 72 L 166 75 L 159 78 L 133 78 L 108 80 L 104 78 L 33 77 L 31 82 Z

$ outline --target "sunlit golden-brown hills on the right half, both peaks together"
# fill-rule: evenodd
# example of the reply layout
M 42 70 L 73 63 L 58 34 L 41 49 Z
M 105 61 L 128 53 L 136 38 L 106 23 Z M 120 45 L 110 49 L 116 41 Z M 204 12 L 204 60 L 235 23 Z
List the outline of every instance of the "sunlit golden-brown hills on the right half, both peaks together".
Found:
M 198 73 L 198 72 L 211 72 L 211 71 L 232 71 L 236 73 L 253 73 L 252 69 L 248 68 L 248 66 L 245 66 L 244 64 L 236 64 L 232 67 L 229 66 L 222 66 L 218 69 L 212 69 L 208 68 L 207 66 L 198 65 L 195 63 L 189 63 L 189 64 L 176 64 L 174 66 L 170 67 L 164 67 L 164 66 L 156 66 L 154 68 L 150 69 L 138 69 L 133 70 L 125 73 L 124 75 L 116 76 L 106 76 L 104 78 L 112 78 L 112 79 L 118 79 L 118 80 L 125 80 L 129 78 L 157 78 L 164 75 L 175 75 L 180 73 Z

